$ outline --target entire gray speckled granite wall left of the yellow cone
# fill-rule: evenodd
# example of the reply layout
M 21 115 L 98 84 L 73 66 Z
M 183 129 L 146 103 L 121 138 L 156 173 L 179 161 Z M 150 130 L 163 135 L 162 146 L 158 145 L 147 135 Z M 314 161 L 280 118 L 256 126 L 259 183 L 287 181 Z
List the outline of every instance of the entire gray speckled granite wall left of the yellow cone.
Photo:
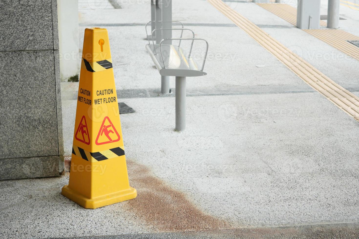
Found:
M 0 180 L 64 168 L 56 0 L 0 1 Z

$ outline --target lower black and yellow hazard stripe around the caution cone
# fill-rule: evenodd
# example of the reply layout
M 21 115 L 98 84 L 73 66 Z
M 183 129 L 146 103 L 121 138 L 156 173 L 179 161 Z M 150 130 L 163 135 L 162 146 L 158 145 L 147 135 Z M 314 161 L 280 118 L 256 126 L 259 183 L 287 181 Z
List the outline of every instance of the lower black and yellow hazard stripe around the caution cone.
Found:
M 125 150 L 123 149 L 122 146 L 122 147 L 107 149 L 99 152 L 89 152 L 87 150 L 84 150 L 83 148 L 73 145 L 72 153 L 89 162 L 97 162 L 97 161 L 102 161 L 102 160 L 125 155 Z

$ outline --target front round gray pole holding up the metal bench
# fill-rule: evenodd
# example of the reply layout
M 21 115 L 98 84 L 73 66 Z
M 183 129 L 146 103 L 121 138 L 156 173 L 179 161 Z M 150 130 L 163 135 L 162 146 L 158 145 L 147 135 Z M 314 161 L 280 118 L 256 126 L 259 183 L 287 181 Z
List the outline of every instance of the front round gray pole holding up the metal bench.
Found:
M 186 129 L 186 77 L 176 76 L 176 131 Z

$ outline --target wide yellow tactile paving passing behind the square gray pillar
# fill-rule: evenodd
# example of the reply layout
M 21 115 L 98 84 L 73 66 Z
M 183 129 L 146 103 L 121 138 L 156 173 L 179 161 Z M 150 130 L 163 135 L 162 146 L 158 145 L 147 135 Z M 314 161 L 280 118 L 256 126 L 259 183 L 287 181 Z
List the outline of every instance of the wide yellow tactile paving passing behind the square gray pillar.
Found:
M 275 15 L 283 18 L 293 25 L 296 25 L 297 23 L 297 9 L 289 6 L 288 4 L 258 3 L 258 5 L 268 11 L 271 11 Z M 320 21 L 320 25 L 326 26 L 325 21 Z M 303 30 L 359 61 L 359 47 L 348 42 L 348 40 L 359 40 L 359 37 L 339 29 Z

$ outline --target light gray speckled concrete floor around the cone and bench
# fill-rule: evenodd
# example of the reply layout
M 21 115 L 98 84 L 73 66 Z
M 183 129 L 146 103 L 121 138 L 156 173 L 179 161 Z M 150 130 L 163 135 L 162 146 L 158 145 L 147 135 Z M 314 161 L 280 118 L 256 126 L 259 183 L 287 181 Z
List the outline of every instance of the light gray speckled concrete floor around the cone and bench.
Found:
M 233 4 L 359 94 L 358 61 L 311 57 L 341 53 L 260 6 Z M 137 198 L 89 210 L 60 194 L 68 176 L 0 181 L 0 237 L 358 237 L 358 122 L 209 3 L 184 0 L 173 1 L 173 19 L 207 39 L 213 57 L 207 76 L 188 78 L 187 130 L 174 132 L 174 94 L 158 94 L 160 76 L 144 47 L 149 5 L 121 7 L 81 8 L 80 36 L 85 27 L 108 29 L 118 98 L 136 110 L 121 123 Z M 61 86 L 70 156 L 78 83 Z

